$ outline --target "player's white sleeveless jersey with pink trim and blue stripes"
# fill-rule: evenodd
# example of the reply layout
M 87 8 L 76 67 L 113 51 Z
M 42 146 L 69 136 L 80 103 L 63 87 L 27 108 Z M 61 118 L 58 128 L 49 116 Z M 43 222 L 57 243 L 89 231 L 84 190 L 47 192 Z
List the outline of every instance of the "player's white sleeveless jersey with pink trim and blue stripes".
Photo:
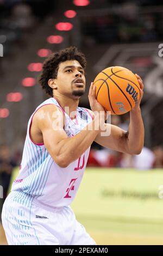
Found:
M 51 97 L 42 102 L 35 112 L 48 104 L 60 107 L 57 100 Z M 14 192 L 12 199 L 26 206 L 31 205 L 35 199 L 48 206 L 68 206 L 76 196 L 82 181 L 90 148 L 68 167 L 59 167 L 48 153 L 45 145 L 43 143 L 35 144 L 30 138 L 29 130 L 35 112 L 28 122 L 20 173 L 12 184 L 11 191 Z M 92 121 L 90 113 L 85 108 L 77 108 L 76 121 L 72 121 L 66 113 L 64 114 L 64 130 L 68 137 L 76 135 Z

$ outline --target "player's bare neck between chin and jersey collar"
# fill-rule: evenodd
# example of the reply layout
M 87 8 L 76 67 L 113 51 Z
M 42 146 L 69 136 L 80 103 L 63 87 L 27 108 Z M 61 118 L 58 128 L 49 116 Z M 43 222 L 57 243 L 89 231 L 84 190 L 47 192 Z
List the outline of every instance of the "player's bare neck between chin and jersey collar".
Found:
M 76 111 L 79 105 L 79 97 L 72 99 L 70 97 L 66 97 L 65 95 L 60 95 L 59 97 L 58 95 L 55 95 L 54 99 L 58 101 L 59 105 L 62 107 L 62 109 L 64 109 L 66 114 L 70 115 L 73 112 L 71 114 L 71 119 L 76 117 Z

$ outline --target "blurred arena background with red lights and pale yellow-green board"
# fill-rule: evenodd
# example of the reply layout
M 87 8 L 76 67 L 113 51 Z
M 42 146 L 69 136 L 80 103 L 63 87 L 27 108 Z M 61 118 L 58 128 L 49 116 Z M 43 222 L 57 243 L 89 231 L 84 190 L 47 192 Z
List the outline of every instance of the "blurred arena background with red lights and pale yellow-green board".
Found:
M 145 85 L 142 153 L 131 156 L 92 144 L 72 204 L 77 219 L 101 245 L 162 245 L 163 3 L 0 0 L 0 44 L 1 209 L 21 163 L 29 117 L 48 98 L 37 83 L 42 63 L 52 52 L 73 45 L 87 58 L 80 106 L 90 108 L 90 83 L 108 66 L 130 69 Z M 111 123 L 127 130 L 129 114 L 112 116 Z M 5 243 L 0 225 L 0 244 Z

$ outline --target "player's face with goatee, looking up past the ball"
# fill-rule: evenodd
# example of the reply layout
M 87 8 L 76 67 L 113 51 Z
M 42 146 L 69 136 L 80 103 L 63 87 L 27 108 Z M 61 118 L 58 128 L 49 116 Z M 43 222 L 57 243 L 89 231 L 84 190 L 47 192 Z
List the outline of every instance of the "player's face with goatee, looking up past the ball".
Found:
M 85 92 L 84 69 L 77 60 L 67 60 L 59 65 L 57 79 L 59 93 L 80 97 Z

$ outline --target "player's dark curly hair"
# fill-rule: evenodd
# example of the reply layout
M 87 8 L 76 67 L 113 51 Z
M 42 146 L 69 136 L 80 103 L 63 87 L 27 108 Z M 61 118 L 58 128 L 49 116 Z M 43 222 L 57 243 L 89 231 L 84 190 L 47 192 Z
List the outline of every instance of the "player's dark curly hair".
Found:
M 78 51 L 77 47 L 71 46 L 60 50 L 59 52 L 52 53 L 45 62 L 43 63 L 42 73 L 39 76 L 39 83 L 42 89 L 46 93 L 53 97 L 53 89 L 49 87 L 48 80 L 51 78 L 57 78 L 59 64 L 65 62 L 66 60 L 77 60 L 82 68 L 86 68 L 86 58 L 82 52 Z

